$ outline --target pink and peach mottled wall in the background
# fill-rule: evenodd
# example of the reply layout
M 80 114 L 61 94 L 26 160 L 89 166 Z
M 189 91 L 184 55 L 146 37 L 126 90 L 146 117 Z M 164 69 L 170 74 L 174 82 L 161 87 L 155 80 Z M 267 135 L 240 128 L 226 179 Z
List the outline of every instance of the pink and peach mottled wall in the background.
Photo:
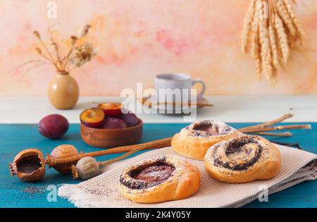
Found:
M 82 95 L 118 95 L 136 82 L 153 87 L 157 73 L 185 72 L 207 83 L 207 94 L 317 93 L 317 1 L 296 6 L 309 51 L 297 52 L 272 89 L 254 61 L 240 51 L 247 0 L 55 0 L 58 18 L 46 17 L 46 0 L 0 0 L 0 95 L 46 94 L 51 66 L 23 75 L 9 72 L 37 58 L 33 30 L 55 25 L 66 38 L 85 23 L 100 47 L 97 58 L 72 75 Z

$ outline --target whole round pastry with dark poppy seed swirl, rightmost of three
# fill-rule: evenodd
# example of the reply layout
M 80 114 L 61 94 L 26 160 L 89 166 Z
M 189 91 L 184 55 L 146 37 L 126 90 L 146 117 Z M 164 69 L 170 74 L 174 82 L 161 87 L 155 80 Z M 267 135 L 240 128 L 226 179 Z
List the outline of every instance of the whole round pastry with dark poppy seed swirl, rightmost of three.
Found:
M 280 171 L 277 147 L 263 137 L 244 135 L 213 145 L 205 156 L 207 173 L 227 183 L 268 180 Z

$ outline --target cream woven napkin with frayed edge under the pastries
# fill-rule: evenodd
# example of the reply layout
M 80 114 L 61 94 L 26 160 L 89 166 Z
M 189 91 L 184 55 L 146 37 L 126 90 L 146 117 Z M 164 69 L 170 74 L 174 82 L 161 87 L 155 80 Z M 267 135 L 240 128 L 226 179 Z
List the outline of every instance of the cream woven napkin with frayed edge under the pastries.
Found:
M 239 207 L 257 199 L 265 186 L 271 194 L 305 180 L 316 180 L 316 154 L 280 145 L 278 148 L 282 154 L 282 168 L 278 175 L 271 180 L 257 180 L 244 184 L 221 183 L 213 180 L 205 171 L 204 161 L 188 159 L 199 168 L 201 185 L 199 191 L 187 199 L 159 204 L 137 204 L 121 197 L 118 193 L 118 180 L 123 168 L 143 159 L 176 155 L 170 147 L 155 149 L 106 166 L 105 173 L 77 185 L 62 185 L 58 189 L 58 196 L 68 198 L 78 207 Z

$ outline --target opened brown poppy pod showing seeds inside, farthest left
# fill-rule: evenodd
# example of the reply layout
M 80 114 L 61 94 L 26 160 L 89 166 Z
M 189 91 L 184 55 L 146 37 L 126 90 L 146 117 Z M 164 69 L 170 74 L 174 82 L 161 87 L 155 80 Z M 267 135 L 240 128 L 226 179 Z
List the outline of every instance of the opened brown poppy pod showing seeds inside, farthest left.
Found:
M 17 175 L 20 180 L 37 181 L 44 178 L 45 159 L 39 149 L 25 149 L 15 156 L 9 168 L 11 175 Z

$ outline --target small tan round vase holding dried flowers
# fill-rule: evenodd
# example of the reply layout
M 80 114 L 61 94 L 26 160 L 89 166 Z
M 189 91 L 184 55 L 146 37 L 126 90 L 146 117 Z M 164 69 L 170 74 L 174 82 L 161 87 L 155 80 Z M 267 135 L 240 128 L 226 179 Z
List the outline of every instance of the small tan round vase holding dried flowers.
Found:
M 47 92 L 49 101 L 56 109 L 72 109 L 78 101 L 79 87 L 77 81 L 69 73 L 74 68 L 91 61 L 97 54 L 94 46 L 87 41 L 90 27 L 89 24 L 85 25 L 78 35 L 71 35 L 66 43 L 55 38 L 51 28 L 48 29 L 49 41 L 45 42 L 40 33 L 34 31 L 33 34 L 39 42 L 35 50 L 43 59 L 27 61 L 13 69 L 16 72 L 19 68 L 32 65 L 23 73 L 25 75 L 44 64 L 53 65 L 57 75 L 49 82 Z

